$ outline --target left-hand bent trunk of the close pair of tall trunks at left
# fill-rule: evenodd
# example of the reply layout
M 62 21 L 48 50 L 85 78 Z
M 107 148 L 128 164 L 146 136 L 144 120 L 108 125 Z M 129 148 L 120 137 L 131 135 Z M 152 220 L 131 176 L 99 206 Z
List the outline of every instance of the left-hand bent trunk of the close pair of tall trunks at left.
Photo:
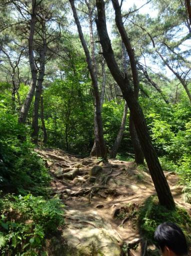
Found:
M 32 1 L 32 13 L 31 13 L 31 20 L 30 20 L 30 33 L 28 37 L 28 56 L 29 56 L 32 83 L 29 88 L 26 99 L 20 110 L 20 115 L 18 118 L 19 123 L 25 123 L 26 121 L 27 113 L 32 101 L 32 97 L 34 95 L 36 81 L 37 81 L 37 70 L 36 70 L 36 66 L 34 63 L 34 56 L 33 56 L 33 38 L 34 38 L 35 23 L 36 23 L 36 0 L 31 0 L 31 1 Z

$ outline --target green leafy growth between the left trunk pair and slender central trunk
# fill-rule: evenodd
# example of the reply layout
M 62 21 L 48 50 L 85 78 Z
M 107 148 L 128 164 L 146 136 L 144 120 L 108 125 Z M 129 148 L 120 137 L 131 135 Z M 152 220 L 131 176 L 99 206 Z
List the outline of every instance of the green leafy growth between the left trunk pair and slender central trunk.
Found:
M 48 145 L 77 153 L 90 150 L 93 144 L 93 100 L 82 66 L 65 72 L 44 91 L 44 116 Z

